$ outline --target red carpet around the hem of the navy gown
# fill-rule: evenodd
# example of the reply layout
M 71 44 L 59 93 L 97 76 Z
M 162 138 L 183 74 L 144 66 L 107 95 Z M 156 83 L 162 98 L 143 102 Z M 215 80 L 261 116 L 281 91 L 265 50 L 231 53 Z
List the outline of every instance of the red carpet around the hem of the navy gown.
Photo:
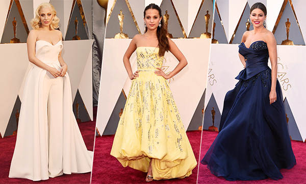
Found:
M 204 155 L 214 142 L 217 134 L 217 132 L 203 130 L 200 159 L 204 157 Z M 306 143 L 302 143 L 299 141 L 291 141 L 291 144 L 297 164 L 290 170 L 281 170 L 284 176 L 283 179 L 273 180 L 268 178 L 253 181 L 227 181 L 223 177 L 216 177 L 215 175 L 211 174 L 210 170 L 207 168 L 206 165 L 199 164 L 198 183 L 306 183 Z

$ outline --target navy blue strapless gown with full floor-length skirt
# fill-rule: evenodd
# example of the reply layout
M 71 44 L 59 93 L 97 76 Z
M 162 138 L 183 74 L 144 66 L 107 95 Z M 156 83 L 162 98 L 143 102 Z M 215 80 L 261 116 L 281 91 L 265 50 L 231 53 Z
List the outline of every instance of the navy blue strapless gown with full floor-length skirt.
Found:
M 201 163 L 227 180 L 281 179 L 279 170 L 296 164 L 282 89 L 277 81 L 277 100 L 270 105 L 271 69 L 264 41 L 253 42 L 250 48 L 241 43 L 239 53 L 246 68 L 225 96 L 219 134 Z

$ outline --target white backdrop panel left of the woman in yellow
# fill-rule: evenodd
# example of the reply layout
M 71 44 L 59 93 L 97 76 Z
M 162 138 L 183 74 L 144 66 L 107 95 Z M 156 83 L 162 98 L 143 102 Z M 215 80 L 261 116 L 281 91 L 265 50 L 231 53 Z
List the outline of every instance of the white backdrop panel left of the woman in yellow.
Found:
M 129 47 L 131 40 L 132 39 L 112 38 L 106 38 L 104 40 L 105 47 L 101 67 L 101 81 L 96 121 L 96 126 L 100 134 L 104 132 L 126 78 L 128 77 L 122 58 L 127 47 Z M 136 56 L 134 53 L 130 58 L 131 65 L 133 65 L 135 60 Z

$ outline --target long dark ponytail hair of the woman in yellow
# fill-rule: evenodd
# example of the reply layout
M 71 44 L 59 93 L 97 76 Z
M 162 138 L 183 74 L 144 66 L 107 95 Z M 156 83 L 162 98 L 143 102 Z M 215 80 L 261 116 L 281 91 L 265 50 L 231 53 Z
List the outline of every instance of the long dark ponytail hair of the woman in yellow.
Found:
M 157 11 L 159 11 L 159 15 L 160 17 L 163 17 L 162 16 L 162 10 L 161 8 L 154 4 L 154 3 L 151 3 L 149 4 L 147 7 L 145 7 L 144 11 L 143 11 L 143 17 L 145 18 L 145 11 L 147 11 L 148 9 L 155 9 Z M 156 35 L 157 35 L 157 39 L 158 39 L 158 46 L 159 46 L 159 55 L 160 56 L 164 56 L 165 55 L 165 52 L 169 51 L 169 48 L 170 48 L 170 45 L 169 45 L 169 40 L 168 40 L 168 30 L 165 26 L 165 21 L 164 21 L 164 18 L 161 19 L 161 27 L 157 27 L 157 31 L 156 31 Z M 147 32 L 148 28 L 146 27 L 145 28 L 145 31 L 144 32 Z

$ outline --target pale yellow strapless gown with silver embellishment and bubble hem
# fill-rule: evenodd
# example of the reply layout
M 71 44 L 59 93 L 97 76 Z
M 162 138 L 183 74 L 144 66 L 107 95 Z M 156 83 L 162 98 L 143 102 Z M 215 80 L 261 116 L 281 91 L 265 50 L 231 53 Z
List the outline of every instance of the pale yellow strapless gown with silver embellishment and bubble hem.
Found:
M 154 179 L 192 174 L 196 160 L 168 82 L 154 71 L 163 64 L 159 48 L 138 47 L 139 77 L 127 96 L 111 155 L 123 167 L 147 172 L 150 159 Z

